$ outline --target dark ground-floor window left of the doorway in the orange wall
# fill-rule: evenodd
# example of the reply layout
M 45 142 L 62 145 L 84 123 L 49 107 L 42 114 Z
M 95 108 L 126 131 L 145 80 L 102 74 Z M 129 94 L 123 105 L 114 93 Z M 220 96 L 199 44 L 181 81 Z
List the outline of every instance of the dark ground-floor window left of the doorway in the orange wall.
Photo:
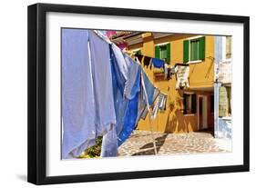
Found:
M 183 94 L 183 114 L 196 114 L 197 95 Z

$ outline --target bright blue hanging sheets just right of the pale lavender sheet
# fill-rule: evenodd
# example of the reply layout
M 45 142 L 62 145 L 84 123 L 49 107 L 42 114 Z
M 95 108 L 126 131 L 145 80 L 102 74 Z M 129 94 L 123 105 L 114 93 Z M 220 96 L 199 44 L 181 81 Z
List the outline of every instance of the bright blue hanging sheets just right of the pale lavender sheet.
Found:
M 140 65 L 116 45 L 110 45 L 112 83 L 117 115 L 116 131 L 104 135 L 101 156 L 116 156 L 118 146 L 125 142 L 133 131 L 138 115 L 140 91 Z M 127 79 L 126 79 L 127 78 Z

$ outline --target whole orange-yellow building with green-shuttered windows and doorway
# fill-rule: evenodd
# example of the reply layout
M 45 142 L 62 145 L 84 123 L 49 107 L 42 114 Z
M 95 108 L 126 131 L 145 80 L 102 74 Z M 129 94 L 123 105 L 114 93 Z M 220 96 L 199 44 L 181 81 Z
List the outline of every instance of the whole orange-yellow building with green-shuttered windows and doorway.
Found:
M 113 40 L 125 41 L 129 51 L 165 59 L 169 66 L 189 64 L 189 88 L 177 89 L 177 78 L 164 79 L 159 70 L 144 70 L 151 82 L 168 95 L 166 111 L 153 120 L 153 131 L 188 133 L 213 127 L 214 36 L 137 32 Z M 148 116 L 138 130 L 149 130 Z

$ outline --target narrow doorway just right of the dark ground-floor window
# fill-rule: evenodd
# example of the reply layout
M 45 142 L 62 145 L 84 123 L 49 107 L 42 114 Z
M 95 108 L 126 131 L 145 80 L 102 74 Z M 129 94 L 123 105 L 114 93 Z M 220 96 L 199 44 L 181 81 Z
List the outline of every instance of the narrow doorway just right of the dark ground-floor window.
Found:
M 199 130 L 207 129 L 207 96 L 198 96 L 198 128 Z

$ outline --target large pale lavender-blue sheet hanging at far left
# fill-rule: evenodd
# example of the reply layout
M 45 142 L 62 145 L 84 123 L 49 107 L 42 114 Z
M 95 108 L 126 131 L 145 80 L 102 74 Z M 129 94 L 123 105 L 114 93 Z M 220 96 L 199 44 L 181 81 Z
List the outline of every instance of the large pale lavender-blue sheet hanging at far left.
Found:
M 78 157 L 116 124 L 109 54 L 94 32 L 62 29 L 64 159 Z

